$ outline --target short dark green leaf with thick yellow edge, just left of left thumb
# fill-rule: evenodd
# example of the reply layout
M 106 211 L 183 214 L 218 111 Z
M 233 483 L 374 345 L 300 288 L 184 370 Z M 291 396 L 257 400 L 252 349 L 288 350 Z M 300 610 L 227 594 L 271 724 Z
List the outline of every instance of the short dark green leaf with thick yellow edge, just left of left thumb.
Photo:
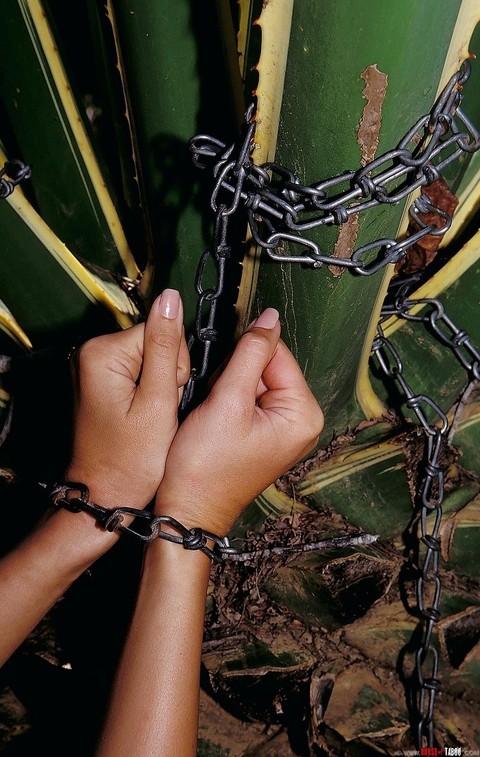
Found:
M 94 330 L 136 321 L 137 311 L 121 287 L 87 270 L 18 187 L 0 204 L 0 224 L 0 298 L 16 321 L 14 334 L 25 346 L 45 346 L 52 338 L 76 341 L 82 329 L 88 333 L 93 305 L 101 305 Z

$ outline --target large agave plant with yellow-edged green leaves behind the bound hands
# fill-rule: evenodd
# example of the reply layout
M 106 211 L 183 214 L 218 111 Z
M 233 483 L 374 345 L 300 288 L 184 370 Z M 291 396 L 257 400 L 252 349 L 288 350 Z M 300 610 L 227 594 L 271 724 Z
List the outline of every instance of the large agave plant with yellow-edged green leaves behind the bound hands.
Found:
M 251 554 L 212 573 L 202 755 L 480 748 L 480 99 L 478 64 L 470 81 L 464 64 L 479 16 L 472 0 L 14 0 L 4 11 L 0 165 L 31 168 L 0 201 L 2 465 L 17 476 L 4 486 L 4 547 L 41 510 L 25 507 L 26 480 L 65 462 L 69 351 L 143 318 L 166 285 L 182 292 L 194 337 L 184 412 L 265 305 L 325 411 L 315 454 L 236 525 L 232 543 Z M 422 117 L 446 87 L 455 106 L 437 107 L 435 132 Z M 437 429 L 441 450 L 431 442 L 425 458 Z M 422 492 L 438 506 L 419 510 Z M 110 571 L 132 572 L 123 549 L 27 642 L 30 667 L 14 659 L 5 709 L 14 691 L 50 722 L 45 684 L 32 694 L 39 655 L 75 701 L 108 679 L 121 633 L 99 654 L 85 617 L 105 604 Z M 115 592 L 111 602 L 96 617 L 109 638 L 112 606 L 122 628 L 129 608 Z

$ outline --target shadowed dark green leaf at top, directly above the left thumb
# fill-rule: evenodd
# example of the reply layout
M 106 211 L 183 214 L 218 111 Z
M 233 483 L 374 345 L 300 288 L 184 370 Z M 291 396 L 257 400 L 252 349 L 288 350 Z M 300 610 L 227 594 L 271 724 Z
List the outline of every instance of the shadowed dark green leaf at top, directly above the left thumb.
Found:
M 231 141 L 237 131 L 215 5 L 111 0 L 108 10 L 155 250 L 153 291 L 178 288 L 190 322 L 195 270 L 210 242 L 211 211 L 187 142 L 202 131 Z M 207 87 L 213 75 L 215 87 Z M 206 278 L 213 273 L 208 270 Z

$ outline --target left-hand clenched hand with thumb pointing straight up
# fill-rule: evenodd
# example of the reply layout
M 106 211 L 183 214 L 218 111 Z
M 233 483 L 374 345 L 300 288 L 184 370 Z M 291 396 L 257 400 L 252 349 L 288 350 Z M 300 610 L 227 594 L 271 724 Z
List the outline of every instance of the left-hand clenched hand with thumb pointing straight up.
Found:
M 104 507 L 145 507 L 162 480 L 190 361 L 178 292 L 145 324 L 86 342 L 74 360 L 75 435 L 67 478 Z

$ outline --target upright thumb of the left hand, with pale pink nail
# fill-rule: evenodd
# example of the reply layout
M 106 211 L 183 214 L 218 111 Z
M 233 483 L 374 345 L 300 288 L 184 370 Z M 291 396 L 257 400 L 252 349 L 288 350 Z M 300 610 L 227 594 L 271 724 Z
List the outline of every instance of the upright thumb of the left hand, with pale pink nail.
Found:
M 143 365 L 136 402 L 177 402 L 177 372 L 183 340 L 183 306 L 175 289 L 154 301 L 145 324 Z M 182 353 L 182 361 L 185 361 Z M 183 372 L 183 371 L 182 371 Z

